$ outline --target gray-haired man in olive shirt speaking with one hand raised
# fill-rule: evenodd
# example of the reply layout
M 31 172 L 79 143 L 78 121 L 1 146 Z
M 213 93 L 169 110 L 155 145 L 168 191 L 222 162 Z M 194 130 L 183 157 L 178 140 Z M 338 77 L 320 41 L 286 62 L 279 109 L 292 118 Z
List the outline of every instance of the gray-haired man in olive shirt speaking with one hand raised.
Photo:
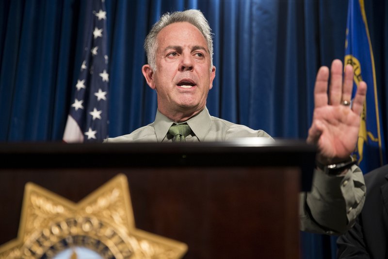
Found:
M 262 130 L 212 117 L 206 108 L 216 68 L 208 21 L 198 10 L 164 14 L 146 37 L 148 64 L 142 72 L 156 90 L 155 121 L 132 133 L 105 142 L 226 141 L 266 137 Z M 301 193 L 300 227 L 325 234 L 339 234 L 355 222 L 365 200 L 361 170 L 350 158 L 356 146 L 366 84 L 361 82 L 350 105 L 353 69 L 334 60 L 318 71 L 313 121 L 307 142 L 318 147 L 312 189 Z

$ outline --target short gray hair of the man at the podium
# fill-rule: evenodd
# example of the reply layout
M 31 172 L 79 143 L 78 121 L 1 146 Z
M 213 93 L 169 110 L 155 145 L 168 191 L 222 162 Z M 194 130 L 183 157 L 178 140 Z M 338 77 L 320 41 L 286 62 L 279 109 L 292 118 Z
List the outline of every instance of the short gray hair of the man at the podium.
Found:
M 213 39 L 208 20 L 199 10 L 186 10 L 182 12 L 165 13 L 151 28 L 146 36 L 144 49 L 147 54 L 148 64 L 156 70 L 156 50 L 158 49 L 158 34 L 160 31 L 175 22 L 189 22 L 193 24 L 205 37 L 210 54 L 210 69 L 213 67 Z

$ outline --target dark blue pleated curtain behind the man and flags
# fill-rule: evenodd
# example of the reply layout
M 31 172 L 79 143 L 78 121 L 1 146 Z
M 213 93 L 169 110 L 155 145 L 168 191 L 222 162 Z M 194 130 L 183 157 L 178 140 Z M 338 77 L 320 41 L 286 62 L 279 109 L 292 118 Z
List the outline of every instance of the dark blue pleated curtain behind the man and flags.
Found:
M 105 0 L 109 135 L 153 121 L 143 41 L 164 12 L 200 9 L 214 33 L 213 116 L 306 138 L 318 68 L 343 60 L 348 0 Z M 0 141 L 61 141 L 81 67 L 85 1 L 0 1 Z M 388 4 L 365 0 L 387 132 Z M 387 139 L 387 138 L 386 138 Z M 384 143 L 386 145 L 386 143 Z M 302 233 L 302 258 L 330 258 L 333 239 Z

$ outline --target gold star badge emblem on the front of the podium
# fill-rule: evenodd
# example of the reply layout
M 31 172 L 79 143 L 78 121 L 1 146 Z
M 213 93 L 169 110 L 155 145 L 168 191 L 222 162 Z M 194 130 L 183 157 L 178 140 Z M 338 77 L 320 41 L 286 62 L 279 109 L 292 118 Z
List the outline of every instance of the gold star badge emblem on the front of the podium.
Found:
M 181 258 L 182 242 L 136 229 L 128 179 L 119 174 L 79 203 L 26 184 L 17 238 L 0 246 L 0 259 L 55 258 L 76 247 L 106 259 Z

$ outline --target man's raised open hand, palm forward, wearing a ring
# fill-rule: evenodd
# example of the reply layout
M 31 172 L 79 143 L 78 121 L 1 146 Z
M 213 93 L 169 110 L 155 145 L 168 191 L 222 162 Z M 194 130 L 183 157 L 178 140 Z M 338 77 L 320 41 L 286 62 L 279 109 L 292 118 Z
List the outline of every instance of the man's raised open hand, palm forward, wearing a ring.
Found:
M 346 160 L 354 151 L 367 91 L 366 83 L 360 82 L 355 98 L 351 100 L 353 67 L 345 67 L 343 80 L 342 68 L 339 59 L 331 64 L 329 93 L 327 67 L 319 69 L 315 81 L 315 106 L 307 143 L 318 146 L 317 160 L 326 165 Z

